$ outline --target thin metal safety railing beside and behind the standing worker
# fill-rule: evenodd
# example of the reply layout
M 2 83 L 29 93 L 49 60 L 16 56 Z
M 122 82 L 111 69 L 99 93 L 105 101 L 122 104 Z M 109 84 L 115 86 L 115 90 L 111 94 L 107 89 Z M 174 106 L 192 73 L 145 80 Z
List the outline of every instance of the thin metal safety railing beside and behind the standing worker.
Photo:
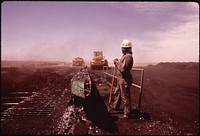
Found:
M 108 67 L 104 66 L 103 67 L 103 73 L 111 76 L 114 78 L 117 78 L 115 75 L 113 75 L 114 67 Z M 141 68 L 132 68 L 132 71 L 140 71 L 140 82 L 139 84 L 132 83 L 132 86 L 136 87 L 139 89 L 139 98 L 138 98 L 138 104 L 137 104 L 137 109 L 140 111 L 141 108 L 141 99 L 142 99 L 142 92 L 143 92 L 143 79 L 144 79 L 144 69 Z

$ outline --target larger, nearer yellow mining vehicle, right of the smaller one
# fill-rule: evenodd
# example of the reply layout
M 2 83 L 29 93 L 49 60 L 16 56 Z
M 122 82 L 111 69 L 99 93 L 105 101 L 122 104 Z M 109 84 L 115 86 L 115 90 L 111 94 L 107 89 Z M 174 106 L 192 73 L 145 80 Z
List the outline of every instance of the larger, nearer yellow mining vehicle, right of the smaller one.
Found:
M 103 56 L 102 51 L 94 51 L 94 57 L 90 61 L 90 66 L 92 70 L 102 70 L 103 66 L 108 66 L 108 61 Z

